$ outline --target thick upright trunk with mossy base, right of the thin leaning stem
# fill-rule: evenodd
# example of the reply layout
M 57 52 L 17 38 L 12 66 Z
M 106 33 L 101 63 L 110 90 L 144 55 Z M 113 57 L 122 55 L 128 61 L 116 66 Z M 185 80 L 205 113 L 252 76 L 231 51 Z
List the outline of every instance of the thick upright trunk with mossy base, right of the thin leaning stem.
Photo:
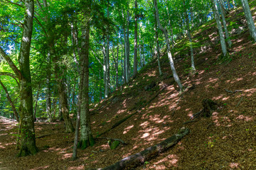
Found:
M 95 140 L 92 137 L 90 128 L 90 113 L 89 113 L 89 40 L 90 40 L 90 10 L 92 1 L 85 3 L 86 11 L 82 11 L 84 21 L 82 24 L 82 42 L 80 55 L 80 141 L 78 147 L 85 149 L 88 146 L 93 146 Z

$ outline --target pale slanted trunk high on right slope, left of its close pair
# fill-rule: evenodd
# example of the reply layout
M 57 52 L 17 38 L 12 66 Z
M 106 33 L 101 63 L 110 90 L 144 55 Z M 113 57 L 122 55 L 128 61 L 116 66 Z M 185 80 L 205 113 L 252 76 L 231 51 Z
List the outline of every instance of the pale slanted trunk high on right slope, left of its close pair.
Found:
M 218 32 L 219 32 L 219 35 L 220 35 L 221 49 L 222 49 L 223 55 L 225 57 L 227 55 L 227 46 L 225 44 L 225 38 L 224 38 L 224 34 L 223 34 L 223 28 L 222 28 L 221 22 L 220 22 L 220 16 L 219 16 L 219 13 L 218 13 L 218 8 L 217 8 L 217 5 L 215 4 L 214 0 L 210 0 L 210 1 L 213 4 L 213 13 L 214 13 L 215 20 L 216 20 L 217 26 L 218 26 Z

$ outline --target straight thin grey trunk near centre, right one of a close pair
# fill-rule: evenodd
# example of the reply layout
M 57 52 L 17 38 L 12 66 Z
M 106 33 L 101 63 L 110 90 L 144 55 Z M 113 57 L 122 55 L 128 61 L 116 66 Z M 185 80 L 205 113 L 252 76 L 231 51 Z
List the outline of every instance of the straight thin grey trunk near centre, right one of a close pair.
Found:
M 138 62 L 137 62 L 137 48 L 138 48 L 138 4 L 137 0 L 134 1 L 135 4 L 135 14 L 134 14 L 134 73 L 133 77 L 137 74 L 137 67 L 138 67 Z

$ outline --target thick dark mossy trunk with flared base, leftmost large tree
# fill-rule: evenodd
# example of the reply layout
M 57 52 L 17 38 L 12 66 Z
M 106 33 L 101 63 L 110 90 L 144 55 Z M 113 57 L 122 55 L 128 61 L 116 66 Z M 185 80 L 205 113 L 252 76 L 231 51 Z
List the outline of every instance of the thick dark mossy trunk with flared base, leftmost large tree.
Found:
M 36 137 L 33 121 L 33 95 L 31 86 L 31 72 L 29 64 L 29 55 L 31 48 L 31 35 L 33 31 L 33 14 L 34 1 L 25 0 L 26 13 L 23 22 L 23 35 L 21 40 L 21 49 L 18 56 L 19 67 L 21 70 L 20 79 L 20 130 L 21 130 L 21 147 L 18 157 L 28 154 L 36 154 Z

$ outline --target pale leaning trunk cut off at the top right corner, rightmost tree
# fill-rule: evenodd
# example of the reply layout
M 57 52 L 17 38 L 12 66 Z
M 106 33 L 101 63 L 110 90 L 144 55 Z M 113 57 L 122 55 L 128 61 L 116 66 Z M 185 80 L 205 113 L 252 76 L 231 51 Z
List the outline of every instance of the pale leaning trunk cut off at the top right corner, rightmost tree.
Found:
M 255 22 L 252 18 L 252 13 L 250 11 L 250 6 L 248 4 L 247 0 L 241 0 L 243 11 L 245 12 L 245 18 L 247 21 L 248 28 L 250 30 L 250 35 L 256 42 L 256 28 L 255 28 Z

